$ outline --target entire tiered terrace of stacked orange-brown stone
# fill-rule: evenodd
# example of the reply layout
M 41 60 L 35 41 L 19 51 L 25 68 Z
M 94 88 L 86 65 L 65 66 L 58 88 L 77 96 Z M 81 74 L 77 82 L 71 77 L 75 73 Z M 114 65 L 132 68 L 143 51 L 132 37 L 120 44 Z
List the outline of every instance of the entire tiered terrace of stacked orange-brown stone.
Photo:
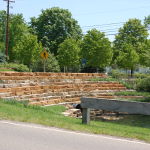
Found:
M 0 72 L 0 98 L 28 100 L 33 105 L 77 102 L 83 96 L 112 98 L 110 92 L 125 90 L 118 82 L 93 82 L 100 73 Z

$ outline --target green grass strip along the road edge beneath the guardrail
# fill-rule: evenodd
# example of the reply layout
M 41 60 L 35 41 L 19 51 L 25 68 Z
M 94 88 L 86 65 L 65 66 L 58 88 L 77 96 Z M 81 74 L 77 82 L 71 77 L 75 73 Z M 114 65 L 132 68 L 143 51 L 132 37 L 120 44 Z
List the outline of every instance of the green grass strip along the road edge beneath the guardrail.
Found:
M 91 121 L 83 125 L 81 119 L 65 117 L 64 106 L 38 107 L 0 100 L 0 119 L 31 122 L 74 131 L 107 134 L 139 139 L 150 143 L 150 116 L 126 116 L 118 121 Z

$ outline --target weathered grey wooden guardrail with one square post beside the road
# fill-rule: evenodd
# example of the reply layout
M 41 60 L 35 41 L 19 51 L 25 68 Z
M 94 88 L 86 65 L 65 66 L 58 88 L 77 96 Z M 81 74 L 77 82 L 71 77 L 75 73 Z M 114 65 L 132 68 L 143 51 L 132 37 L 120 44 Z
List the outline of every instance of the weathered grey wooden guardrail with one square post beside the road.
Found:
M 100 109 L 128 114 L 150 115 L 150 103 L 114 99 L 81 98 L 82 123 L 90 123 L 90 109 Z

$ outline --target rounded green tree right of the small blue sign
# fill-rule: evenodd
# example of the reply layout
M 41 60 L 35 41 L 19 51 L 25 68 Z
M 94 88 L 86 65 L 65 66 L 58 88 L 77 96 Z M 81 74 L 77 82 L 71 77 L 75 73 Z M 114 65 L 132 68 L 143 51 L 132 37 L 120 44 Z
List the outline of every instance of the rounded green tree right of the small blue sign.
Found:
M 104 33 L 92 29 L 83 38 L 81 55 L 87 66 L 106 67 L 112 59 L 111 42 Z

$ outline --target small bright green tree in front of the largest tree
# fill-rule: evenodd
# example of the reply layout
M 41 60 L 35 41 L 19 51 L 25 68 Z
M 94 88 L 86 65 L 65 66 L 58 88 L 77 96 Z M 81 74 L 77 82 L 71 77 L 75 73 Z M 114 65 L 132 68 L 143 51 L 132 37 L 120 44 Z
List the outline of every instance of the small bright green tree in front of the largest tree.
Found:
M 60 66 L 64 68 L 78 67 L 80 63 L 79 52 L 79 42 L 72 38 L 66 39 L 58 48 L 57 58 Z

